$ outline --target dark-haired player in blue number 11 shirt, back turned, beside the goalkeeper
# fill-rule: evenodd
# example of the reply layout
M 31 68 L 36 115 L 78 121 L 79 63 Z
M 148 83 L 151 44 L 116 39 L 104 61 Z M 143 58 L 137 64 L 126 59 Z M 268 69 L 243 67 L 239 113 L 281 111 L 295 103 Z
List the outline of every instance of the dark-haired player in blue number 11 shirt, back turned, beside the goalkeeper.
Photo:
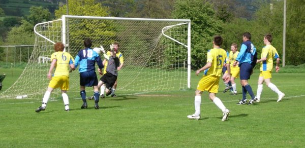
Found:
M 79 85 L 80 85 L 80 96 L 83 100 L 81 108 L 87 108 L 86 91 L 85 87 L 92 87 L 94 89 L 94 100 L 95 108 L 99 109 L 99 87 L 98 77 L 95 63 L 99 66 L 99 73 L 103 75 L 102 68 L 104 68 L 100 55 L 91 49 L 92 41 L 90 39 L 84 40 L 85 48 L 80 50 L 75 57 L 75 67 L 79 65 Z

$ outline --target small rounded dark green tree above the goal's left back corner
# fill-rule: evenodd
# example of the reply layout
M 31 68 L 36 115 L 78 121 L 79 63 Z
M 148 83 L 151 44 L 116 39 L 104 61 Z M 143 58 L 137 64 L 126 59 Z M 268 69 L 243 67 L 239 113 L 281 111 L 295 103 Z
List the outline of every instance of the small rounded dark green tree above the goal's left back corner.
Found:
M 29 8 L 29 15 L 27 16 L 28 22 L 33 25 L 37 23 L 46 22 L 51 20 L 51 13 L 48 9 L 43 7 L 31 7 Z

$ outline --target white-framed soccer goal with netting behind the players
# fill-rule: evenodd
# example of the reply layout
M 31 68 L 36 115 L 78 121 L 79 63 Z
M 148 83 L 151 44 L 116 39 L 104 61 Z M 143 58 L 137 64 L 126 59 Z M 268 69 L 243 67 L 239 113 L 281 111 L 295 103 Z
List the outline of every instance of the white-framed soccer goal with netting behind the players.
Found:
M 63 42 L 66 52 L 75 57 L 84 48 L 85 38 L 93 41 L 92 48 L 102 45 L 105 50 L 110 50 L 112 42 L 119 42 L 119 51 L 124 56 L 124 66 L 118 71 L 119 94 L 190 88 L 191 21 L 188 19 L 64 15 L 58 20 L 39 23 L 34 30 L 35 47 L 29 62 L 16 83 L 1 92 L 0 98 L 41 97 L 49 83 L 48 58 L 54 52 L 53 45 Z M 69 92 L 79 92 L 78 68 L 70 73 Z M 58 95 L 60 90 L 52 94 Z

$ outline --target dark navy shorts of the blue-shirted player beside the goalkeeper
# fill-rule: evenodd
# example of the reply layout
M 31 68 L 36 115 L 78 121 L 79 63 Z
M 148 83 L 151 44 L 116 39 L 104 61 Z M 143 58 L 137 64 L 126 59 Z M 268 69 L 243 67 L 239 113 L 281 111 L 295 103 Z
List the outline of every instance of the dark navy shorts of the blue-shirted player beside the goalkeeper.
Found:
M 95 71 L 85 71 L 79 73 L 79 85 L 92 87 L 98 85 L 98 77 Z

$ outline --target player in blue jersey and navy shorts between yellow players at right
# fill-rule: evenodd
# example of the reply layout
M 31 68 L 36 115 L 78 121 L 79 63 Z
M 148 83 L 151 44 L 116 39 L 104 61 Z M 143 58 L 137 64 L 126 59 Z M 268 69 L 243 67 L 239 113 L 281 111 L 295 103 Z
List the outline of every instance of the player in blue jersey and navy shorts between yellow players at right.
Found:
M 242 86 L 242 99 L 237 103 L 238 105 L 247 104 L 247 92 L 250 94 L 251 99 L 248 102 L 248 105 L 253 104 L 257 101 L 248 80 L 253 73 L 253 68 L 256 64 L 257 53 L 255 46 L 251 43 L 251 33 L 245 32 L 242 34 L 242 44 L 239 50 L 239 53 L 236 57 L 236 60 L 233 63 L 233 66 L 239 63 L 239 77 L 240 84 Z

